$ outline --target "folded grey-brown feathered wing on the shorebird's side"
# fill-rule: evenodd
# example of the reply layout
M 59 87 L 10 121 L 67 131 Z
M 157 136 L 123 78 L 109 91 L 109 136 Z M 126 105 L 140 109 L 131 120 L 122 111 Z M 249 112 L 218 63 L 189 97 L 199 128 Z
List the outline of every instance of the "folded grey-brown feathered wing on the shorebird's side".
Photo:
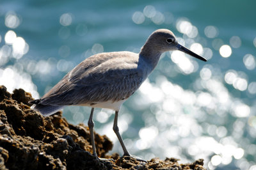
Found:
M 131 55 L 133 54 L 133 55 Z M 85 59 L 41 98 L 44 105 L 77 105 L 122 100 L 142 83 L 138 56 L 103 53 Z

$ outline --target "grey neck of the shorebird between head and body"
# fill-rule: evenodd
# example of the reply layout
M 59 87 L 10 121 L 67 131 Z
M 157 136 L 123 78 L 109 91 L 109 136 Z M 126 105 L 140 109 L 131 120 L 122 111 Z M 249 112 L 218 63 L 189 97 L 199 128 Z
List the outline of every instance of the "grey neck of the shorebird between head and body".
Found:
M 159 50 L 154 50 L 154 47 L 150 47 L 147 43 L 140 50 L 140 58 L 145 59 L 154 69 L 160 59 L 161 52 Z

